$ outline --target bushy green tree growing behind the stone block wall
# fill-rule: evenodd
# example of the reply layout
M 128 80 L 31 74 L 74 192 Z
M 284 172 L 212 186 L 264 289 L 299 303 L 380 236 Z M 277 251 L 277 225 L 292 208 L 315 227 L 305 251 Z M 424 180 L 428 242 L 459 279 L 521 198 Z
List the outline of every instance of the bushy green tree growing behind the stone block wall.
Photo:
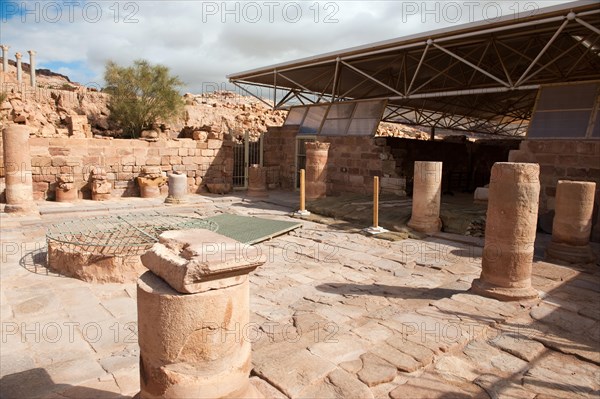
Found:
M 139 137 L 159 119 L 177 117 L 183 109 L 178 88 L 183 85 L 169 68 L 136 60 L 122 67 L 109 61 L 104 72 L 105 91 L 111 94 L 108 103 L 110 120 L 129 137 Z

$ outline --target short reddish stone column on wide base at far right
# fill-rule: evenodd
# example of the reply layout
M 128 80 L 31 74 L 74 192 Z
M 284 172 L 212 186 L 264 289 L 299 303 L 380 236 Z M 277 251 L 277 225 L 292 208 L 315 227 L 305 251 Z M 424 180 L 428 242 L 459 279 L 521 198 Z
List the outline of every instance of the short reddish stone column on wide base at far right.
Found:
M 592 263 L 590 248 L 596 183 L 559 180 L 552 223 L 552 241 L 546 259 L 567 263 Z

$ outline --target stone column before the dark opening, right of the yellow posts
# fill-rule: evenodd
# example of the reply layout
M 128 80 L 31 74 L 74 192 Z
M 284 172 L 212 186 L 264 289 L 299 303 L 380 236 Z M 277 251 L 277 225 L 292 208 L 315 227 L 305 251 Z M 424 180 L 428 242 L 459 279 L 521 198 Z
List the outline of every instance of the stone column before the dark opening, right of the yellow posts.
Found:
M 413 207 L 408 227 L 423 233 L 442 229 L 442 162 L 415 162 Z

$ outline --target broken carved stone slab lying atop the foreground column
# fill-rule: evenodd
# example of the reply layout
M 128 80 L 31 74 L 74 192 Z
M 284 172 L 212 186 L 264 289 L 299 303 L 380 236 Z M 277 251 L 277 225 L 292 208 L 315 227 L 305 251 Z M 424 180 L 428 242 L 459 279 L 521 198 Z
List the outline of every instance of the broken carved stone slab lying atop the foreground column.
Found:
M 182 293 L 240 284 L 264 263 L 257 248 L 205 229 L 166 231 L 141 259 Z

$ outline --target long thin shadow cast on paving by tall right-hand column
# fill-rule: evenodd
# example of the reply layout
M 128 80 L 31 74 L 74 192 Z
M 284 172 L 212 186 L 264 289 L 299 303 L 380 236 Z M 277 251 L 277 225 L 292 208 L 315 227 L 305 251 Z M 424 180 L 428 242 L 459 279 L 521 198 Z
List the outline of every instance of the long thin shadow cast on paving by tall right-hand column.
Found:
M 432 299 L 450 298 L 465 291 L 449 288 L 414 288 L 398 287 L 385 284 L 352 284 L 330 283 L 317 285 L 317 290 L 337 295 L 374 295 L 400 299 Z

